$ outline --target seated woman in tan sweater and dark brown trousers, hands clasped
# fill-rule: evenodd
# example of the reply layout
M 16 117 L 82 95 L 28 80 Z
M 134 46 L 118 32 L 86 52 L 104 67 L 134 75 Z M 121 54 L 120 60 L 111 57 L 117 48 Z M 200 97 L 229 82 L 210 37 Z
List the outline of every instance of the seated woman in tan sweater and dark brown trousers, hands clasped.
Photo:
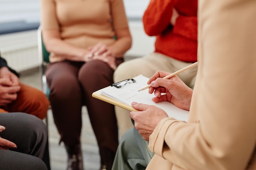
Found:
M 110 170 L 119 142 L 115 109 L 92 93 L 113 83 L 114 70 L 131 47 L 123 1 L 41 0 L 41 7 L 43 40 L 50 52 L 45 72 L 49 100 L 67 150 L 68 170 L 83 169 L 83 105 L 97 139 L 101 168 Z

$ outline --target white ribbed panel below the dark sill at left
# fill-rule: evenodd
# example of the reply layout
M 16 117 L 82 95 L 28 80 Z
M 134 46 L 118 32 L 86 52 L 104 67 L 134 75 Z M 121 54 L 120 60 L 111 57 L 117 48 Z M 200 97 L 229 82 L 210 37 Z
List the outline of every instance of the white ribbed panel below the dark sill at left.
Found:
M 16 71 L 38 67 L 37 31 L 23 31 L 0 35 L 0 52 L 8 65 Z

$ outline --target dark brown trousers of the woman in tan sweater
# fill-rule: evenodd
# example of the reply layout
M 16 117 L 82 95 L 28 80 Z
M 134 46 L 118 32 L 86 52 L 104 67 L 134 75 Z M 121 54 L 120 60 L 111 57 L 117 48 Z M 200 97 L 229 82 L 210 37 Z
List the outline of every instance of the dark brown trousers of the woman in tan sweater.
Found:
M 116 60 L 117 65 L 121 62 L 123 59 Z M 112 84 L 113 73 L 106 63 L 99 60 L 51 63 L 45 73 L 51 91 L 49 100 L 54 122 L 61 141 L 66 145 L 80 141 L 81 108 L 85 105 L 98 142 L 101 164 L 109 163 L 109 166 L 112 166 L 118 146 L 115 110 L 112 104 L 93 98 L 92 93 Z

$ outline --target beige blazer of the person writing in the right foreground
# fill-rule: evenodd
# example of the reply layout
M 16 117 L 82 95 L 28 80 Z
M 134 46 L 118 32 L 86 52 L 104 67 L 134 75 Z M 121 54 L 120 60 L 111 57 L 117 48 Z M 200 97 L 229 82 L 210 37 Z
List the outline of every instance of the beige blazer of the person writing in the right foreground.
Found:
M 199 0 L 189 122 L 163 119 L 146 170 L 256 170 L 256 0 Z

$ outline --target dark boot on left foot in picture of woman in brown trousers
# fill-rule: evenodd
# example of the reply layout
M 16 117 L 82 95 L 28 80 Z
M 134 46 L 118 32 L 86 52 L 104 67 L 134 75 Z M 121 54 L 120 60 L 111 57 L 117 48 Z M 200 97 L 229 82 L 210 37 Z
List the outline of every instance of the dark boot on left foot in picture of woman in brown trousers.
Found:
M 83 170 L 81 144 L 65 145 L 67 150 L 67 170 Z

